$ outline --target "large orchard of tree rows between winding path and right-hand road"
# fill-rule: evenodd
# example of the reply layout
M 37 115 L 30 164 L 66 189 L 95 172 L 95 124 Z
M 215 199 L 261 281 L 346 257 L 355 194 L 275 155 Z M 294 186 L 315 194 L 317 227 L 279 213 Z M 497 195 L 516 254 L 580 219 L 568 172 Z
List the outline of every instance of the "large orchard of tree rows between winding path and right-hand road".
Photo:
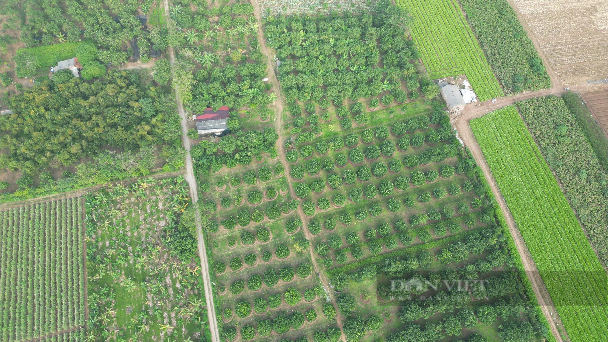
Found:
M 295 124 L 302 131 L 286 153 L 288 172 L 316 263 L 337 290 L 343 330 L 349 339 L 389 341 L 418 329 L 428 340 L 446 335 L 496 340 L 509 329 L 536 338 L 537 316 L 498 314 L 500 324 L 485 317 L 499 298 L 515 311 L 530 304 L 516 290 L 515 273 L 503 265 L 510 252 L 496 240 L 502 228 L 494 223 L 492 197 L 439 108 L 413 102 L 363 110 L 369 124 L 326 130 L 334 120 L 354 115 L 344 108 L 340 117 L 330 111 L 311 142 L 299 137 L 314 135 L 314 114 Z M 391 280 L 412 277 L 440 285 L 392 290 Z M 471 288 L 460 299 L 441 285 L 463 279 L 491 285 Z M 451 301 L 460 304 L 438 299 L 432 309 L 430 299 L 416 301 L 429 295 L 454 296 Z

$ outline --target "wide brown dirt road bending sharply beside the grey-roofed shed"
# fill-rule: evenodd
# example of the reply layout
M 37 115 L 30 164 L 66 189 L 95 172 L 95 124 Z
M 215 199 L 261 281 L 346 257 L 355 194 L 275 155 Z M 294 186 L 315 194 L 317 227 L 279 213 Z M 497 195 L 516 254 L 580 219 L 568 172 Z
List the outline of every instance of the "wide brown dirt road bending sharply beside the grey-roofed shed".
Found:
M 562 90 L 563 91 L 563 90 Z M 471 130 L 471 126 L 469 125 L 469 120 L 475 119 L 476 117 L 483 116 L 491 111 L 497 110 L 499 108 L 503 108 L 504 106 L 512 105 L 514 102 L 531 99 L 532 97 L 539 96 L 547 96 L 550 94 L 559 95 L 561 92 L 559 88 L 556 87 L 551 89 L 546 89 L 542 91 L 530 92 L 528 94 L 521 94 L 519 96 L 514 97 L 506 97 L 496 101 L 496 103 L 492 103 L 491 101 L 486 101 L 478 104 L 478 106 L 467 106 L 465 109 L 465 114 L 460 117 L 457 117 L 454 120 L 454 125 L 458 131 L 458 135 L 460 139 L 462 139 L 463 143 L 466 147 L 469 148 L 473 158 L 477 161 L 477 165 L 483 170 L 483 174 L 488 180 L 488 184 L 492 189 L 492 193 L 496 200 L 499 203 L 500 209 L 503 213 L 505 213 L 505 220 L 507 225 L 509 226 L 509 231 L 511 232 L 511 236 L 513 236 L 513 240 L 517 247 L 517 252 L 522 258 L 523 267 L 526 271 L 526 275 L 528 279 L 530 279 L 532 289 L 534 290 L 534 294 L 536 295 L 536 299 L 538 301 L 539 306 L 541 307 L 542 313 L 547 318 L 549 323 L 549 327 L 551 329 L 551 333 L 556 338 L 558 342 L 567 342 L 569 341 L 567 335 L 565 334 L 565 329 L 561 323 L 561 319 L 557 314 L 557 310 L 551 301 L 551 297 L 547 291 L 547 287 L 545 287 L 544 282 L 541 279 L 541 275 L 536 268 L 536 264 L 530 255 L 530 251 L 528 251 L 523 238 L 517 229 L 517 225 L 513 217 L 511 216 L 511 212 L 509 211 L 508 206 L 506 205 L 505 198 L 502 197 L 500 193 L 500 189 L 496 184 L 496 180 L 494 180 L 494 176 L 492 176 L 492 172 L 489 169 L 488 163 L 486 159 L 483 157 L 483 153 L 479 145 L 477 144 L 477 140 L 473 135 Z M 559 329 L 561 327 L 561 329 Z M 564 337 L 562 337 L 562 333 L 564 332 Z

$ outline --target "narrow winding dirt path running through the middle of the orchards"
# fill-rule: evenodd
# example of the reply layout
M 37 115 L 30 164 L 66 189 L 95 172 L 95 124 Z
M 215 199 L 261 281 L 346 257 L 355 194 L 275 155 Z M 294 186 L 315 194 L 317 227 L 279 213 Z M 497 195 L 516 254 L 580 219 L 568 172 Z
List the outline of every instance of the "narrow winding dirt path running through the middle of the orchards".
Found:
M 268 60 L 268 63 L 267 63 L 268 79 L 272 85 L 272 92 L 277 94 L 277 100 L 275 101 L 274 106 L 275 106 L 275 113 L 277 114 L 277 117 L 275 118 L 275 128 L 278 133 L 278 141 L 277 141 L 278 158 L 281 161 L 281 164 L 283 164 L 283 169 L 285 169 L 285 177 L 287 180 L 287 184 L 289 186 L 289 194 L 291 194 L 291 196 L 293 198 L 297 198 L 295 196 L 294 186 L 291 182 L 291 177 L 289 177 L 289 174 L 288 174 L 289 164 L 287 162 L 287 159 L 285 158 L 285 148 L 284 148 L 285 147 L 285 134 L 282 130 L 283 94 L 281 92 L 280 86 L 278 85 L 277 75 L 274 72 L 274 66 L 275 66 L 274 52 L 272 52 L 272 50 L 269 49 L 268 46 L 266 46 L 266 40 L 264 40 L 264 33 L 262 31 L 263 27 L 261 25 L 262 19 L 261 19 L 261 15 L 260 15 L 260 4 L 258 4 L 257 0 L 252 0 L 251 4 L 254 6 L 255 19 L 257 20 L 258 25 L 259 25 L 258 26 L 258 41 L 260 42 L 260 49 L 261 49 L 261 52 L 267 57 L 267 60 Z M 302 220 L 302 222 L 306 222 L 306 217 L 304 215 L 304 212 L 302 211 L 301 206 L 298 206 L 297 213 L 300 216 L 300 219 Z M 313 240 L 313 237 L 308 232 L 308 229 L 305 229 L 305 228 L 302 228 L 302 229 L 303 229 L 306 239 L 308 239 L 309 241 Z M 331 303 L 332 303 L 332 305 L 334 305 L 334 307 L 336 308 L 336 312 L 337 312 L 336 296 L 334 296 L 333 291 L 331 291 L 330 282 L 329 282 L 328 277 L 325 275 L 325 273 L 321 273 L 319 270 L 319 265 L 317 265 L 317 261 L 314 257 L 313 246 L 311 246 L 309 248 L 309 252 L 310 252 L 311 262 L 313 263 L 314 273 L 319 274 L 319 280 L 322 282 L 323 287 L 325 287 L 325 289 L 328 291 L 330 299 L 331 299 Z M 346 335 L 344 334 L 344 330 L 342 329 L 342 326 L 343 326 L 342 317 L 340 315 L 336 315 L 336 325 L 337 325 L 337 327 L 339 327 L 340 332 L 342 332 L 342 337 L 341 337 L 342 341 L 346 341 Z

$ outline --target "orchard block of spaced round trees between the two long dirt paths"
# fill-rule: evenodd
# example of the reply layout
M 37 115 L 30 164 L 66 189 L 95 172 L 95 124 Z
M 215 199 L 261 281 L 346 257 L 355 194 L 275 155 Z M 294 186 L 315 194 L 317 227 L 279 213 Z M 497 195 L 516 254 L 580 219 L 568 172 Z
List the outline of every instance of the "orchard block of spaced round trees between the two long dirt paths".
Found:
M 285 177 L 282 164 L 264 160 L 206 178 L 214 189 L 204 192 L 205 206 L 217 203 L 210 229 L 217 310 L 229 337 L 274 331 L 283 338 L 331 326 L 321 314 L 325 292 L 313 273 L 299 201 L 289 196 Z

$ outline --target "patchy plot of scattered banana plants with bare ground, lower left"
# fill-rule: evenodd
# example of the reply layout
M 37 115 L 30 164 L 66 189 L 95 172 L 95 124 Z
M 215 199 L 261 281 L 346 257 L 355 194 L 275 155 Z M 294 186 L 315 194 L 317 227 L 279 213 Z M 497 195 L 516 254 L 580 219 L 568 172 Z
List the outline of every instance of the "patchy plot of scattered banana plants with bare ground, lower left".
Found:
M 190 220 L 179 222 L 187 194 L 178 177 L 117 184 L 86 196 L 88 336 L 211 340 L 197 240 L 184 228 Z

